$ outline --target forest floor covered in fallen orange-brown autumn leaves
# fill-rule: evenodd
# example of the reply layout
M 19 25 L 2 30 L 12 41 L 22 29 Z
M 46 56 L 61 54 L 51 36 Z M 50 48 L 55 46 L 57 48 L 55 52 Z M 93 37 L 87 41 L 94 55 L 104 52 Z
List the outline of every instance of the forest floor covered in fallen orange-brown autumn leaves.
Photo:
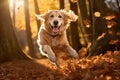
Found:
M 62 58 L 61 68 L 48 59 L 0 64 L 0 80 L 120 80 L 120 51 L 89 58 Z

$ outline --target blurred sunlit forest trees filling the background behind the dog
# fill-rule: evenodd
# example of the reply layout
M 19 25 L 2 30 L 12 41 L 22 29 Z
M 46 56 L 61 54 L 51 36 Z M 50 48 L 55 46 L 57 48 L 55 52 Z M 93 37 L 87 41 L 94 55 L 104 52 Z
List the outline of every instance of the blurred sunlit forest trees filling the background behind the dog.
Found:
M 120 0 L 1 0 L 0 54 L 18 50 L 12 54 L 40 57 L 36 43 L 40 21 L 35 15 L 55 9 L 71 9 L 78 15 L 67 30 L 77 51 L 84 47 L 86 55 L 92 56 L 120 50 Z

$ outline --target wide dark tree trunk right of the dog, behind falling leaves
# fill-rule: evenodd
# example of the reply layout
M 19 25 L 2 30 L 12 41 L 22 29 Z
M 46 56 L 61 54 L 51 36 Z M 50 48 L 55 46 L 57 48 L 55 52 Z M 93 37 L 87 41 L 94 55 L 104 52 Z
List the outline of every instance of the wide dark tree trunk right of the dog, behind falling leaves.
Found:
M 103 18 L 105 16 L 105 4 L 103 0 L 89 0 L 90 4 L 90 16 L 92 23 L 92 46 L 90 55 L 96 55 L 105 52 L 104 48 L 108 45 L 108 31 L 106 21 Z M 95 13 L 100 13 L 100 16 L 95 16 Z M 105 33 L 103 39 L 97 40 L 99 36 Z M 106 46 L 106 47 L 105 47 Z

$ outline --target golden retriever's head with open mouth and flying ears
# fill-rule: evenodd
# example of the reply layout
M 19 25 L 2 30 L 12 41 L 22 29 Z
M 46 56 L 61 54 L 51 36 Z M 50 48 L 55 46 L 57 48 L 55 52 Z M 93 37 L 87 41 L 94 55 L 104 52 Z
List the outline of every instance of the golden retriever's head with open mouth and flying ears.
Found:
M 36 15 L 45 25 L 45 30 L 51 35 L 58 35 L 64 32 L 71 21 L 76 21 L 78 16 L 73 11 L 51 10 L 42 15 Z

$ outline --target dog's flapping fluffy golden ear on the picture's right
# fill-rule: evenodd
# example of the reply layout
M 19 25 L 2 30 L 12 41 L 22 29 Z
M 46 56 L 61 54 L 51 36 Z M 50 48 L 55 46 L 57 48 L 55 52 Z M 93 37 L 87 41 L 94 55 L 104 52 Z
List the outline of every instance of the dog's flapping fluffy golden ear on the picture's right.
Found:
M 65 10 L 61 10 L 61 12 L 64 14 L 64 16 L 68 19 L 68 21 L 75 22 L 78 19 L 78 16 L 75 15 L 75 13 L 72 10 L 69 10 L 68 12 Z

